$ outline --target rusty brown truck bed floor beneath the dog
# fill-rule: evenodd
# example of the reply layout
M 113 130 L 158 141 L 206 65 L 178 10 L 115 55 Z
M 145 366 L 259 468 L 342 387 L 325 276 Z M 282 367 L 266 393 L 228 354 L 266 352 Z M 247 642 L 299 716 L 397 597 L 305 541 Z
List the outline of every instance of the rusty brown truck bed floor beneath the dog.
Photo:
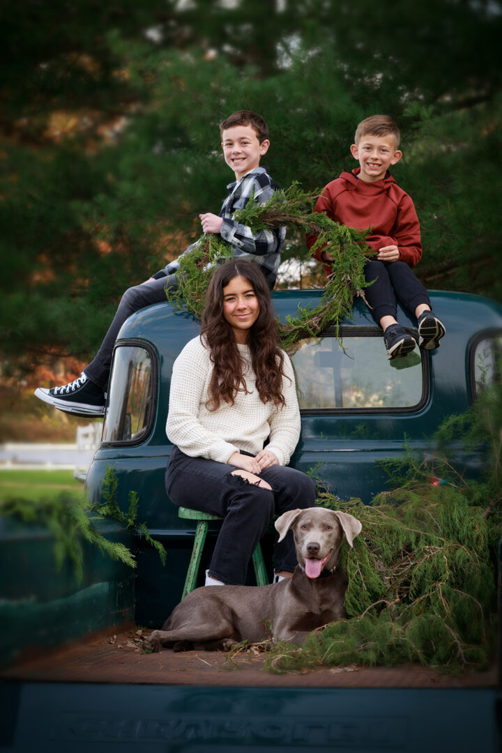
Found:
M 142 653 L 145 636 L 135 626 L 100 633 L 44 656 L 24 657 L 0 672 L 0 679 L 41 682 L 96 682 L 236 687 L 496 687 L 496 666 L 461 675 L 422 666 L 318 667 L 303 673 L 272 674 L 265 654 L 170 650 Z

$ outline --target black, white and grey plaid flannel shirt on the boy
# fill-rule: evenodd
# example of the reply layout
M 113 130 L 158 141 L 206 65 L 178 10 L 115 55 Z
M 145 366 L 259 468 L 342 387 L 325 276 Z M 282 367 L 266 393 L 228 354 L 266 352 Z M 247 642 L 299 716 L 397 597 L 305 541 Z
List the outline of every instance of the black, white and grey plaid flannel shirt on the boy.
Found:
M 281 248 L 286 236 L 286 227 L 283 225 L 272 230 L 258 230 L 257 233 L 253 233 L 251 227 L 239 224 L 234 220 L 233 214 L 246 206 L 253 192 L 254 202 L 265 204 L 272 198 L 274 191 L 280 191 L 280 187 L 275 181 L 272 181 L 266 168 L 255 167 L 239 181 L 228 184 L 227 189 L 228 196 L 219 212 L 219 216 L 224 218 L 221 237 L 230 243 L 236 258 L 247 259 L 255 264 L 260 264 L 270 288 L 273 288 L 281 261 Z M 189 245 L 181 256 L 189 254 L 197 243 L 198 241 Z M 176 273 L 180 266 L 180 258 L 169 262 L 166 268 L 157 272 L 154 277 L 159 279 Z

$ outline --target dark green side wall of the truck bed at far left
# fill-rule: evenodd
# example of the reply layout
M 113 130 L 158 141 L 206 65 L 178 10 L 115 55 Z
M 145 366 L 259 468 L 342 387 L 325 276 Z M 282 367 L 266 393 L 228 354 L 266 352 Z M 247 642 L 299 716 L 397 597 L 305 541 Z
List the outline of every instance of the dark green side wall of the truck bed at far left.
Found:
M 111 520 L 95 525 L 132 549 L 131 531 Z M 56 566 L 55 540 L 47 528 L 0 517 L 0 666 L 24 651 L 64 645 L 134 620 L 134 571 L 88 541 L 81 544 L 79 580 L 69 559 Z

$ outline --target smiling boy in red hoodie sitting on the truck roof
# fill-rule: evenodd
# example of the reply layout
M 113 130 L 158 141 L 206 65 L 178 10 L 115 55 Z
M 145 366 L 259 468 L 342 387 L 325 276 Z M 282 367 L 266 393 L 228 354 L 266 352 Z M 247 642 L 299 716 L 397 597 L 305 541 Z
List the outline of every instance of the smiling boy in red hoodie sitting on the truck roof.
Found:
M 388 358 L 401 358 L 416 346 L 415 338 L 397 323 L 397 303 L 418 320 L 418 345 L 437 348 L 446 330 L 431 311 L 424 285 L 412 273 L 421 259 L 420 225 L 413 202 L 388 172 L 402 157 L 400 132 L 388 115 L 362 120 L 355 132 L 351 154 L 359 167 L 342 172 L 324 188 L 315 212 L 325 212 L 336 222 L 364 230 L 371 227 L 366 242 L 378 252 L 364 268 L 367 301 L 373 318 L 384 331 Z M 307 237 L 309 248 L 315 236 Z M 327 275 L 333 258 L 326 248 L 315 253 Z

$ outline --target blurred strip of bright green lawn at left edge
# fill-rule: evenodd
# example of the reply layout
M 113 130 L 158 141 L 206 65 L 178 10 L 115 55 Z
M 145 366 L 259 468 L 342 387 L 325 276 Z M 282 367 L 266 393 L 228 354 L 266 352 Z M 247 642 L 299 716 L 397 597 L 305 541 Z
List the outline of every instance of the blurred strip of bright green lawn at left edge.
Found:
M 68 491 L 84 492 L 84 484 L 73 477 L 73 471 L 0 470 L 0 504 L 14 497 L 35 500 Z

